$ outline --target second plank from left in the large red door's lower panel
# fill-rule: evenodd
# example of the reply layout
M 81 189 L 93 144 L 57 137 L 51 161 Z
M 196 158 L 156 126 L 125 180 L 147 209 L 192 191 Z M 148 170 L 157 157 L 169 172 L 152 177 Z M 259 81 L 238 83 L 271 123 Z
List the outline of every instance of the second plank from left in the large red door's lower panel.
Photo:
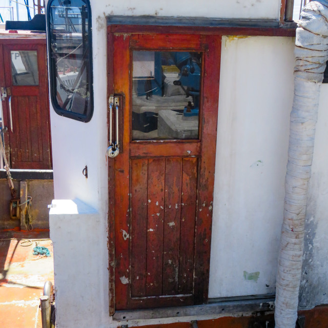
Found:
M 148 160 L 147 296 L 162 295 L 165 158 Z

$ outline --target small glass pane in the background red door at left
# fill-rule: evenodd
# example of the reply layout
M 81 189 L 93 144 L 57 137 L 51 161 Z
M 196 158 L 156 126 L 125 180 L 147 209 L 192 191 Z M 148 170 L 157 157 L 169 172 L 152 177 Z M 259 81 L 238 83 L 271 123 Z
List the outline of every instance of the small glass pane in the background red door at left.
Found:
M 10 54 L 12 84 L 14 86 L 37 86 L 39 72 L 36 50 L 10 51 Z

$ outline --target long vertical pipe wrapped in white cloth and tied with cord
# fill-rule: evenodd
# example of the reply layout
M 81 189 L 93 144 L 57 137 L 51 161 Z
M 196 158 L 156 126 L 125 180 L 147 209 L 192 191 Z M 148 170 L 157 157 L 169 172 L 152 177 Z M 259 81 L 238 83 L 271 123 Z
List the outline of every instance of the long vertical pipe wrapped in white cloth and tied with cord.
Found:
M 284 218 L 278 258 L 275 324 L 295 328 L 301 280 L 308 182 L 319 95 L 328 60 L 328 3 L 310 2 L 296 30 L 294 101 L 290 118 Z

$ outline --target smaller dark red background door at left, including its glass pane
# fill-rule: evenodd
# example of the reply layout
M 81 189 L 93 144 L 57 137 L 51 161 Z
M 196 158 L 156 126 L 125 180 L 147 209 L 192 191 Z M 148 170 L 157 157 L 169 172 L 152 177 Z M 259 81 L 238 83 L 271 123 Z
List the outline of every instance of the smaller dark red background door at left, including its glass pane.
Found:
M 4 44 L 2 53 L 0 86 L 6 88 L 2 106 L 10 167 L 51 169 L 46 44 Z

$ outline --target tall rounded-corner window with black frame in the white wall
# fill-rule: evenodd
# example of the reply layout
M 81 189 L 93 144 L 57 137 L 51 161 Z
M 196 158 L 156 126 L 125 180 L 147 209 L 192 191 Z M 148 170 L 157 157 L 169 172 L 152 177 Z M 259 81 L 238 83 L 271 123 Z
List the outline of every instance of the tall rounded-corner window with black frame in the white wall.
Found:
M 47 15 L 54 110 L 88 122 L 93 113 L 90 3 L 50 0 Z

